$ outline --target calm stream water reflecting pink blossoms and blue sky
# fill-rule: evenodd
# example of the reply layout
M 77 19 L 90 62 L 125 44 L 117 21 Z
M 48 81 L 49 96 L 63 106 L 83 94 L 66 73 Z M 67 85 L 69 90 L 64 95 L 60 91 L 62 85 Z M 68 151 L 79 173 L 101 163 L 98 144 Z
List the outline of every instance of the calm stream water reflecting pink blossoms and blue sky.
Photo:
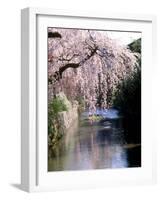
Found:
M 99 111 L 104 117 L 101 122 L 91 121 L 87 115 L 84 112 L 49 150 L 48 171 L 141 166 L 141 145 L 126 143 L 117 110 Z

